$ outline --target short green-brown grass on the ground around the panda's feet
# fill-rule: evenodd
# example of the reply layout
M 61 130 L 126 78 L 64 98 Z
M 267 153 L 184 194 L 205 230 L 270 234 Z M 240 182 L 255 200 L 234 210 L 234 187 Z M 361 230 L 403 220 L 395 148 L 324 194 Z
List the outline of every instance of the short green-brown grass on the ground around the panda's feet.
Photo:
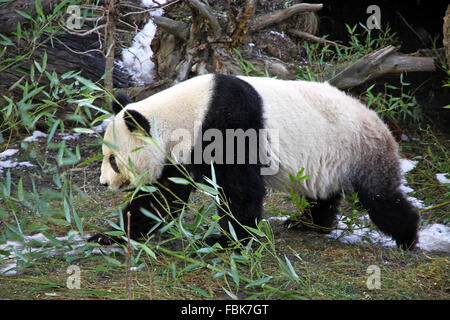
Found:
M 413 135 L 411 134 L 411 137 Z M 425 130 L 417 136 L 422 145 L 432 145 L 430 155 L 427 148 L 418 148 L 417 142 L 403 143 L 402 149 L 408 158 L 422 156 L 418 167 L 408 178 L 419 185 L 417 196 L 427 203 L 442 202 L 448 189 L 431 181 L 437 170 L 442 170 L 447 156 L 448 140 L 445 136 Z M 86 150 L 83 154 L 92 154 L 96 147 L 95 137 L 83 141 Z M 90 140 L 91 143 L 88 143 Z M 431 143 L 432 141 L 433 144 Z M 81 141 L 73 142 L 81 143 Z M 40 148 L 42 149 L 42 148 Z M 420 152 L 421 151 L 421 152 Z M 46 153 L 52 157 L 51 153 Z M 25 159 L 25 158 L 24 158 Z M 47 159 L 51 163 L 51 159 Z M 73 206 L 83 222 L 86 232 L 92 232 L 94 226 L 107 226 L 105 220 L 108 212 L 120 206 L 121 196 L 107 192 L 98 185 L 99 160 L 76 168 L 70 176 L 73 188 L 83 193 L 74 193 Z M 39 188 L 51 188 L 52 173 L 40 172 L 37 168 L 27 169 L 22 176 L 41 177 Z M 35 170 L 36 172 L 32 172 Z M 11 176 L 12 185 L 19 181 L 20 172 Z M 16 176 L 17 175 L 17 176 Z M 422 181 L 422 180 L 423 181 Z M 23 180 L 24 192 L 31 191 L 30 184 Z M 64 221 L 64 205 L 61 199 L 49 204 L 54 210 L 52 216 L 35 216 L 28 221 L 30 226 L 45 225 L 46 232 L 52 235 L 65 235 L 69 230 L 77 230 L 70 225 L 54 223 L 52 219 Z M 192 199 L 197 209 L 210 203 L 210 198 L 198 192 Z M 269 190 L 264 202 L 265 217 L 274 215 L 274 211 L 293 212 L 296 206 L 288 195 Z M 343 210 L 351 208 L 345 203 Z M 188 228 L 193 223 L 195 210 L 185 215 L 184 223 Z M 18 216 L 22 221 L 23 216 Z M 424 220 L 425 219 L 425 220 Z M 426 212 L 422 221 L 432 223 L 448 219 L 448 206 Z M 14 225 L 14 219 L 5 221 Z M 58 221 L 60 222 L 60 221 Z M 448 299 L 450 298 L 449 274 L 450 264 L 447 254 L 426 252 L 404 252 L 395 248 L 383 248 L 376 244 L 349 245 L 338 240 L 326 238 L 315 232 L 298 232 L 285 230 L 282 223 L 272 221 L 272 242 L 262 241 L 252 247 L 251 252 L 242 250 L 217 250 L 212 253 L 195 254 L 187 248 L 189 239 L 166 234 L 150 240 L 149 248 L 154 251 L 156 259 L 142 253 L 138 260 L 133 259 L 131 292 L 127 293 L 126 255 L 116 252 L 111 255 L 89 254 L 80 252 L 74 260 L 63 255 L 32 255 L 24 252 L 29 263 L 16 276 L 0 276 L 0 298 L 8 299 Z M 8 234 L 11 230 L 1 226 Z M 4 238 L 6 240 L 6 238 Z M 170 240 L 172 239 L 172 240 Z M 264 239 L 263 239 L 264 240 Z M 165 245 L 164 245 L 165 244 Z M 267 245 L 267 250 L 260 250 Z M 158 246 L 160 250 L 158 250 Z M 271 249 L 273 246 L 274 249 Z M 136 258 L 139 250 L 133 251 Z M 182 257 L 180 257 L 182 256 Z M 4 258 L 4 257 L 3 257 Z M 189 259 L 186 259 L 189 258 Z M 287 259 L 287 260 L 286 260 Z M 250 261 L 251 260 L 251 261 Z M 234 261 L 234 262 L 231 262 Z M 283 264 L 280 263 L 283 262 Z M 289 273 L 289 264 L 293 273 Z M 210 264 L 217 269 L 208 268 Z M 81 288 L 68 289 L 66 273 L 70 265 L 81 269 Z M 381 289 L 369 290 L 366 285 L 366 270 L 370 265 L 380 268 Z M 283 266 L 288 272 L 283 271 Z M 220 274 L 222 272 L 222 275 Z M 234 275 L 238 275 L 234 277 Z M 296 275 L 296 276 L 294 276 Z M 247 287 L 248 281 L 265 282 L 266 287 L 256 284 Z M 271 287 L 273 290 L 268 290 Z

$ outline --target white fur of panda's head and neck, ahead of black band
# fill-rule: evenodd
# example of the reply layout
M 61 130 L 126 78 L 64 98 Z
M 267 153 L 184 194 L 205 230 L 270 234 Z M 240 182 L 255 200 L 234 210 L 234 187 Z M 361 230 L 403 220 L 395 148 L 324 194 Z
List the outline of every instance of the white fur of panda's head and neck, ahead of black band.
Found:
M 136 172 L 147 170 L 148 174 L 144 178 L 148 181 L 157 179 L 166 159 L 165 151 L 174 145 L 174 143 L 171 144 L 172 133 L 177 129 L 185 129 L 192 134 L 192 137 L 195 137 L 194 126 L 199 125 L 198 120 L 204 117 L 212 89 L 211 75 L 206 75 L 184 81 L 170 90 L 164 90 L 147 99 L 128 104 L 106 129 L 104 140 L 117 145 L 120 151 L 113 152 L 106 144 L 103 144 L 104 158 L 100 183 L 108 184 L 112 190 L 117 190 L 123 184 L 133 182 L 135 177 L 129 170 L 128 157 L 131 157 Z M 136 110 L 149 119 L 150 123 L 156 123 L 159 147 L 145 143 L 129 132 L 124 121 L 124 113 L 127 109 Z M 114 131 L 120 132 L 115 135 L 115 138 Z M 186 150 L 191 147 L 189 142 L 184 141 Z M 132 152 L 138 147 L 143 148 Z M 121 174 L 110 167 L 108 156 L 111 153 L 115 153 L 119 158 Z

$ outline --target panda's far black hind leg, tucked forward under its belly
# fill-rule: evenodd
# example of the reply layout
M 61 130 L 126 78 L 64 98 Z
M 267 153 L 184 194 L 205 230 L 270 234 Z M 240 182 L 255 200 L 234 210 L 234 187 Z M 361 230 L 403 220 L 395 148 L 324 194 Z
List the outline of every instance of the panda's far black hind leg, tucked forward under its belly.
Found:
M 288 229 L 316 230 L 329 233 L 334 227 L 341 200 L 341 193 L 334 194 L 327 199 L 314 200 L 307 198 L 309 206 L 300 217 L 288 219 L 285 227 Z

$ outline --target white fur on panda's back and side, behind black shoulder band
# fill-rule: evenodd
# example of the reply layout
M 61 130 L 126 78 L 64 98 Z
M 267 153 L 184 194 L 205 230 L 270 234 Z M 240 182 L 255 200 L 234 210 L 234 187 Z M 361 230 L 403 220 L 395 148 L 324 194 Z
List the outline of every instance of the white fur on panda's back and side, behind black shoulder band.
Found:
M 349 172 L 368 162 L 380 137 L 395 145 L 375 112 L 328 83 L 240 78 L 262 97 L 266 128 L 278 130 L 279 171 L 265 177 L 275 189 L 305 168 L 297 190 L 326 198 L 350 184 Z

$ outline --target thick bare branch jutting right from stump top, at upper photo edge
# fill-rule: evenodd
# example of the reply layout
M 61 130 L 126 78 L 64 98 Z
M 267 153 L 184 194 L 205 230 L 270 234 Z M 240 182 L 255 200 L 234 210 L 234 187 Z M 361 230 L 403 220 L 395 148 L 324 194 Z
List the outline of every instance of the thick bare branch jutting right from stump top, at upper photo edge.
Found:
M 286 19 L 289 19 L 293 15 L 305 11 L 318 11 L 321 10 L 323 5 L 321 3 L 309 4 L 309 3 L 298 3 L 292 7 L 277 10 L 275 12 L 265 14 L 255 18 L 251 24 L 250 31 L 255 32 L 272 24 L 278 24 Z

